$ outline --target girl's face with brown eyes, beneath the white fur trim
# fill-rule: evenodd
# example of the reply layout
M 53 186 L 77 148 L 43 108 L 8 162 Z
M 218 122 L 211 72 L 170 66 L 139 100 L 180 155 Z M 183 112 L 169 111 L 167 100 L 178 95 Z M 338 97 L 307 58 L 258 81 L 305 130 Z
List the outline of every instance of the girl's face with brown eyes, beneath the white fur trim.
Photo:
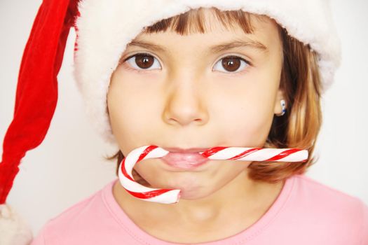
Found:
M 128 59 L 111 77 L 107 103 L 123 155 L 145 145 L 264 146 L 274 113 L 281 112 L 278 27 L 268 18 L 252 18 L 254 34 L 245 34 L 238 26 L 226 29 L 211 15 L 207 24 L 211 27 L 205 34 L 181 36 L 169 30 L 139 34 L 135 39 L 164 50 L 138 45 L 125 50 L 122 60 L 139 53 L 151 56 Z M 266 49 L 211 48 L 240 40 L 257 41 Z M 223 59 L 229 56 L 240 58 Z M 182 199 L 198 199 L 245 174 L 249 164 L 210 160 L 184 171 L 172 169 L 161 159 L 149 159 L 135 170 L 154 188 L 179 188 Z

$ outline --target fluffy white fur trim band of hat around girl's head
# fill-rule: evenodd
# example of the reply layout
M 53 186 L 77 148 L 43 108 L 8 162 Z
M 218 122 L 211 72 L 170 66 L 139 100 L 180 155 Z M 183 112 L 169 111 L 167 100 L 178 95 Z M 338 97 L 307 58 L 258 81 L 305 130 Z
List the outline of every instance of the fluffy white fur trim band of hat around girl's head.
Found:
M 88 116 L 111 144 L 116 141 L 107 114 L 107 92 L 125 46 L 143 27 L 199 7 L 241 9 L 275 19 L 291 36 L 310 44 L 318 53 L 323 91 L 331 85 L 341 54 L 327 0 L 81 0 L 74 76 Z

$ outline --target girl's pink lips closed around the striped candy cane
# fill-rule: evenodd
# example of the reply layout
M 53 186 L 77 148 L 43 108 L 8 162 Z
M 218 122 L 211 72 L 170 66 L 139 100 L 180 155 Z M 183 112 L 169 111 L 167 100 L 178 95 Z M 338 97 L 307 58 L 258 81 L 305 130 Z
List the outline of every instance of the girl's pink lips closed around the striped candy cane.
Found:
M 170 167 L 175 169 L 195 169 L 199 166 L 205 165 L 209 161 L 200 152 L 206 151 L 208 148 L 164 148 L 169 151 L 167 155 L 163 158 L 165 162 Z

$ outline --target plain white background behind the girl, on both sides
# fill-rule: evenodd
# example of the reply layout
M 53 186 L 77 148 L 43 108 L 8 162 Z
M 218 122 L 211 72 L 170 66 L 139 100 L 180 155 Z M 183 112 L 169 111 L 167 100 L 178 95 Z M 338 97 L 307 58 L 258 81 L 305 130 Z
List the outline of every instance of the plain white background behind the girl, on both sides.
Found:
M 40 4 L 41 0 L 0 0 L 1 142 L 13 118 L 20 59 Z M 319 160 L 307 175 L 368 204 L 368 2 L 332 1 L 332 9 L 343 59 L 322 100 L 324 123 L 315 151 Z M 23 158 L 8 195 L 8 204 L 27 220 L 34 234 L 50 218 L 116 179 L 115 161 L 103 158 L 116 149 L 104 144 L 90 127 L 71 76 L 74 40 L 73 29 L 48 134 Z

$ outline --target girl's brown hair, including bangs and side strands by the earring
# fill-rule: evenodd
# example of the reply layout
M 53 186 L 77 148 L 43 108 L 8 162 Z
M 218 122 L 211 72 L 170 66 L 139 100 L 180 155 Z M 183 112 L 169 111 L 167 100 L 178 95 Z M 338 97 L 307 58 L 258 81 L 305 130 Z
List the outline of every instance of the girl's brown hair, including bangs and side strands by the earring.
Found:
M 221 11 L 211 8 L 211 13 L 222 22 L 224 27 L 239 25 L 245 33 L 252 33 L 250 13 L 243 10 Z M 252 15 L 257 19 L 261 15 Z M 205 17 L 203 9 L 191 9 L 181 15 L 156 22 L 144 28 L 144 33 L 166 31 L 168 28 L 185 35 L 189 31 L 205 33 Z M 308 150 L 306 162 L 252 162 L 248 167 L 249 177 L 254 181 L 276 183 L 283 181 L 294 174 L 303 174 L 306 169 L 315 163 L 312 157 L 315 140 L 318 137 L 322 124 L 320 108 L 321 79 L 318 70 L 318 55 L 309 45 L 304 45 L 296 38 L 289 36 L 286 29 L 278 25 L 283 45 L 283 65 L 280 77 L 280 87 L 284 90 L 287 111 L 284 116 L 273 118 L 271 130 L 264 148 L 301 148 Z M 108 160 L 117 158 L 118 166 L 124 155 L 118 151 Z M 133 169 L 136 181 L 146 183 Z

